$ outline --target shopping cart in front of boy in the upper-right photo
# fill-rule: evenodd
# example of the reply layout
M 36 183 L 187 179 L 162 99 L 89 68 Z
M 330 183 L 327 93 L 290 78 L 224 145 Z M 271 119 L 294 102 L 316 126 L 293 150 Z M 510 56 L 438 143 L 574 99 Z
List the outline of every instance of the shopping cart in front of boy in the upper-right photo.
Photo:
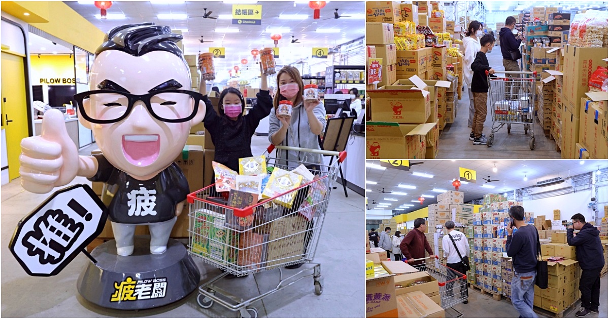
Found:
M 507 134 L 510 134 L 512 124 L 523 124 L 524 134 L 531 132 L 529 148 L 535 149 L 535 83 L 537 72 L 497 72 L 506 77 L 488 78 L 488 97 L 491 103 L 493 126 L 488 136 L 487 146 L 493 146 L 495 133 L 507 124 Z M 533 75 L 532 78 L 516 78 L 511 75 Z

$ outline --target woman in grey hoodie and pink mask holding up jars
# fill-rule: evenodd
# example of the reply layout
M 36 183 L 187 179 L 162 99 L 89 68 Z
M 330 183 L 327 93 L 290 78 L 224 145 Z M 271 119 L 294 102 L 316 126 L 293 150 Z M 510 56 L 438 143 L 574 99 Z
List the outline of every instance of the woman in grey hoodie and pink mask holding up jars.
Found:
M 284 66 L 277 72 L 279 88 L 273 100 L 275 112 L 269 118 L 269 140 L 273 145 L 320 149 L 318 136 L 326 129 L 326 109 L 319 100 L 303 100 L 303 80 L 293 66 Z M 292 115 L 277 115 L 280 101 L 288 100 L 294 106 Z M 319 170 L 322 155 L 299 151 L 278 150 L 278 159 L 287 160 L 281 165 L 296 168 L 301 162 L 309 163 L 309 169 Z M 310 165 L 315 163 L 317 165 Z

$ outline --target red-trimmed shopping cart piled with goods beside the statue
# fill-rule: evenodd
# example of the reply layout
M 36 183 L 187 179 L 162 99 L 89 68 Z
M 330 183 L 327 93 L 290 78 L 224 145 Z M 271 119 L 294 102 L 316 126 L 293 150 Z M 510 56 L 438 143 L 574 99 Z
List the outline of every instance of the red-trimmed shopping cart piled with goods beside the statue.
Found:
M 215 184 L 188 195 L 189 255 L 224 270 L 199 287 L 197 303 L 203 308 L 209 308 L 216 302 L 239 311 L 242 318 L 256 318 L 258 310 L 251 306 L 253 303 L 297 281 L 312 277 L 315 293 L 320 295 L 323 292 L 320 264 L 312 261 L 330 191 L 339 165 L 347 153 L 269 146 L 267 165 L 287 171 L 296 167 L 289 166 L 282 159 L 271 158 L 274 148 L 337 156 L 338 160 L 332 165 L 301 162 L 315 165 L 314 170 L 309 169 L 315 175 L 313 181 L 241 209 L 229 207 L 225 197 L 222 197 L 226 192 L 217 193 Z M 289 179 L 281 182 L 296 183 Z M 305 265 L 298 268 L 297 273 L 284 274 L 284 266 L 303 262 Z M 219 287 L 222 279 L 229 274 L 245 276 L 270 270 L 279 273 L 279 283 L 256 297 L 244 300 L 244 297 L 238 296 L 239 292 L 233 293 Z

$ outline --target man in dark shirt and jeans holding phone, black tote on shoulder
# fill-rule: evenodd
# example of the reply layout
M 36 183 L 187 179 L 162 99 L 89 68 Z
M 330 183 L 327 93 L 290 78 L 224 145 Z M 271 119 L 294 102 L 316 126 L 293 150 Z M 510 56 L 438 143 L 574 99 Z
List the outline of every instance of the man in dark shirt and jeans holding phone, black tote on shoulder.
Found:
M 514 276 L 512 278 L 512 304 L 521 318 L 538 318 L 533 312 L 535 276 L 537 275 L 537 228 L 524 222 L 524 208 L 510 208 L 510 222 L 507 225 L 505 250 L 512 257 Z M 518 229 L 514 233 L 514 227 Z M 513 234 L 513 236 L 512 236 Z

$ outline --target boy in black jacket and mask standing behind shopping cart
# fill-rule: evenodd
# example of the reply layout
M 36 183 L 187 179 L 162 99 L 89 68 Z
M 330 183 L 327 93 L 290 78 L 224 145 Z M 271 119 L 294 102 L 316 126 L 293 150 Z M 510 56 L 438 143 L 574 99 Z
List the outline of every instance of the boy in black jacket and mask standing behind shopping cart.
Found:
M 486 53 L 490 53 L 495 46 L 495 37 L 484 35 L 480 39 L 481 49 L 476 53 L 476 58 L 471 63 L 474 75 L 471 78 L 471 92 L 474 95 L 474 122 L 471 132 L 474 134 L 474 145 L 487 143 L 487 137 L 482 134 L 484 121 L 487 119 L 488 80 L 486 71 L 495 74 L 495 70 L 488 66 Z

